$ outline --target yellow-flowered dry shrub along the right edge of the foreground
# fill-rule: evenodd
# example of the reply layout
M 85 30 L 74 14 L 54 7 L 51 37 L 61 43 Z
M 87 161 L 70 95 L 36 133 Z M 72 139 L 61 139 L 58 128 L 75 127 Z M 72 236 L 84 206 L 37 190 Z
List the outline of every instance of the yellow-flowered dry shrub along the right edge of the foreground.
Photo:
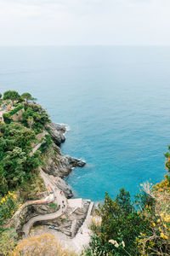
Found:
M 152 198 L 152 205 L 146 204 L 143 215 L 150 222 L 150 230 L 141 233 L 137 241 L 141 255 L 170 254 L 170 192 L 167 175 L 165 180 L 151 187 L 150 183 L 143 184 L 144 192 Z

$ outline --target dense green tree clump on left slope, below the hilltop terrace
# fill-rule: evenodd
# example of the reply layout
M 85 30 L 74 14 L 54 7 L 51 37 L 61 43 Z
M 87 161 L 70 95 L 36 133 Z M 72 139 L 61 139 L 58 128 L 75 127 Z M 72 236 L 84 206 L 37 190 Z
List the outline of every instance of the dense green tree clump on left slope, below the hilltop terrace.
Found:
M 39 154 L 30 155 L 34 131 L 20 124 L 0 125 L 0 194 L 15 189 L 39 165 Z

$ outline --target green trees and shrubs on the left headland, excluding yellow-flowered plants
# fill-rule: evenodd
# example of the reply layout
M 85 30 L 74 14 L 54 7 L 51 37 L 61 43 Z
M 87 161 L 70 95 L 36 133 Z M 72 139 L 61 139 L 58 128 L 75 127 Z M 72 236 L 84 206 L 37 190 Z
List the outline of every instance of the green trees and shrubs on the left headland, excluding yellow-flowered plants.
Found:
M 8 90 L 3 98 L 20 100 L 21 96 Z M 13 115 L 22 108 L 25 111 L 20 122 L 14 122 Z M 32 103 L 23 105 L 15 102 L 15 107 L 8 113 L 3 113 L 3 118 L 5 122 L 0 125 L 0 195 L 5 195 L 10 189 L 16 189 L 31 178 L 31 172 L 40 164 L 40 153 L 37 151 L 31 155 L 32 144 L 37 142 L 36 135 L 42 132 L 49 122 L 48 114 L 42 107 Z M 49 138 L 44 138 L 43 146 L 47 144 L 46 141 L 49 141 Z

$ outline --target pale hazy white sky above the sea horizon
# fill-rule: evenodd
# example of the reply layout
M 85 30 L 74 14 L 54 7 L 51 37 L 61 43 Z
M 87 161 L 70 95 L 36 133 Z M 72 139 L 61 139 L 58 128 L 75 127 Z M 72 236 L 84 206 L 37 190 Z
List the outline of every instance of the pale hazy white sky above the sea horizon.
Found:
M 0 0 L 0 45 L 169 44 L 170 0 Z

